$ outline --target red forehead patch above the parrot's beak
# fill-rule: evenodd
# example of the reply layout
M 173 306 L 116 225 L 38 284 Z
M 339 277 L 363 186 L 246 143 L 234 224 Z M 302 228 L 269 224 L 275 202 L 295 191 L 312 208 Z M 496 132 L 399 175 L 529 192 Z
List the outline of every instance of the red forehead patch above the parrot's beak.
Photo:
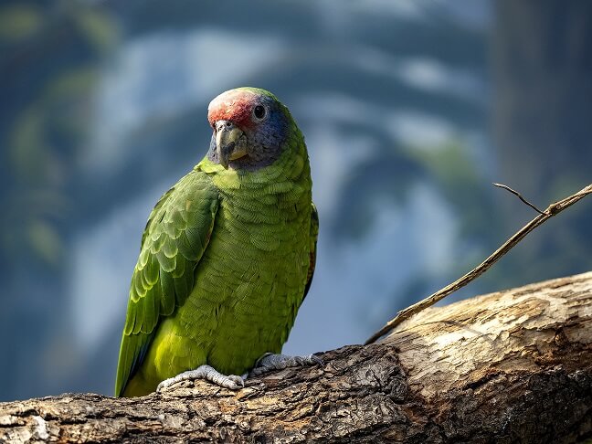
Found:
M 210 125 L 217 121 L 234 122 L 238 127 L 253 125 L 251 112 L 256 96 L 247 90 L 229 90 L 212 100 L 207 107 L 207 120 Z

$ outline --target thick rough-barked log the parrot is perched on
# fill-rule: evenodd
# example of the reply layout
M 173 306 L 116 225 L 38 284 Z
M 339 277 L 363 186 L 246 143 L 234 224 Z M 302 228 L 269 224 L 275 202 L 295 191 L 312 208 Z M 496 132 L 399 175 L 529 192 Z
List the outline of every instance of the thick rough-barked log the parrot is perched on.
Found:
M 579 442 L 592 436 L 592 273 L 431 308 L 381 344 L 163 395 L 0 403 L 0 441 Z

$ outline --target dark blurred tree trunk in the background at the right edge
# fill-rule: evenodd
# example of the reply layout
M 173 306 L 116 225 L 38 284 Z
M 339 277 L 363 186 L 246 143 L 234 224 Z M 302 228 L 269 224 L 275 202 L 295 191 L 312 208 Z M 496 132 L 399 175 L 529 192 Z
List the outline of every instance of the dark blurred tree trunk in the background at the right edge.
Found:
M 492 33 L 500 180 L 546 206 L 592 175 L 592 3 L 500 0 Z M 507 229 L 532 212 L 502 203 Z M 519 207 L 516 211 L 516 207 Z M 555 220 L 513 251 L 520 280 L 592 269 L 592 212 Z

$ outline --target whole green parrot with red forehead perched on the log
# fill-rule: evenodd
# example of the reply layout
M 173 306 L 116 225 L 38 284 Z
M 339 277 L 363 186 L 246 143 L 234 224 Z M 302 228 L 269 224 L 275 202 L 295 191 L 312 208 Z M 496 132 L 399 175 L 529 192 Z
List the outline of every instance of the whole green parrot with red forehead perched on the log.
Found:
M 280 354 L 316 258 L 304 138 L 266 90 L 228 90 L 207 118 L 209 151 L 164 193 L 143 233 L 115 396 L 196 378 L 238 389 L 249 370 L 320 362 Z

